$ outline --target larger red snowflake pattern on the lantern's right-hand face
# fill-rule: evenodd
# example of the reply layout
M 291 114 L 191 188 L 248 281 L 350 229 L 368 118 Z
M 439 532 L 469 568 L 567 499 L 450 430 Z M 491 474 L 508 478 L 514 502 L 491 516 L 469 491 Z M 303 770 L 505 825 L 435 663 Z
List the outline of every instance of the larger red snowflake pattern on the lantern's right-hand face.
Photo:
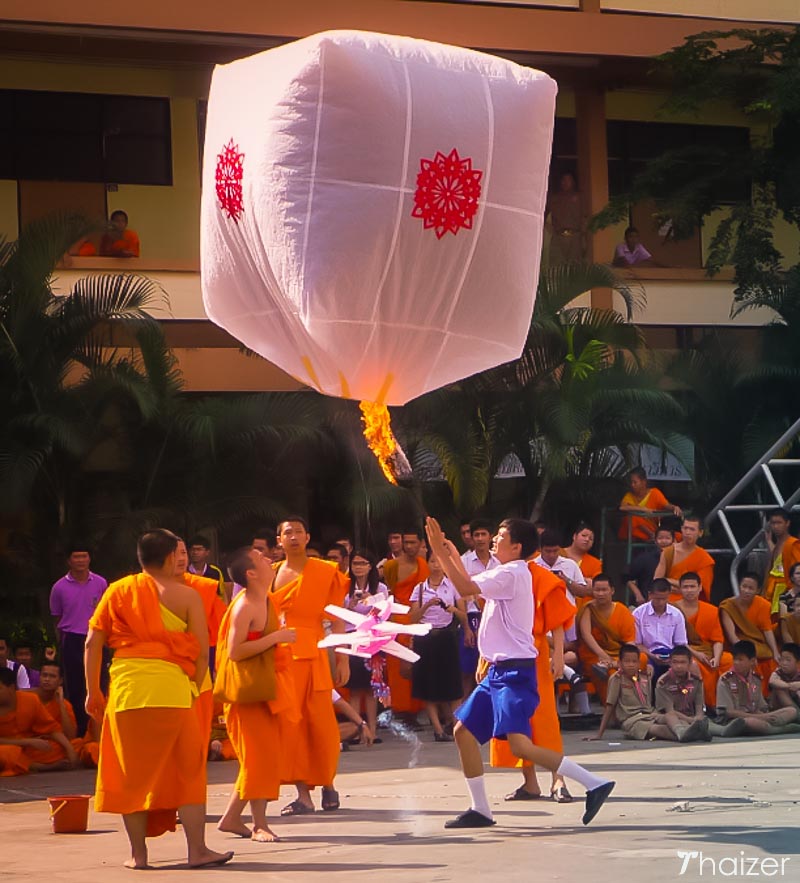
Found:
M 419 165 L 411 217 L 422 218 L 437 239 L 448 231 L 455 236 L 462 227 L 471 230 L 483 172 L 472 168 L 469 157 L 461 159 L 455 147 L 447 156 L 437 150 L 433 159 L 421 159 Z

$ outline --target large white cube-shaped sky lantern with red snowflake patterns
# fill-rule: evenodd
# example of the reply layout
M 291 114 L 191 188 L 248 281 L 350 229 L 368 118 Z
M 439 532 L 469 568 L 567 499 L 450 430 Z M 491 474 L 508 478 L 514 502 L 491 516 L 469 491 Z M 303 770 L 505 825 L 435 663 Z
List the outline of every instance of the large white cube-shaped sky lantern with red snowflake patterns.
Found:
M 217 67 L 209 317 L 320 392 L 374 403 L 368 417 L 517 358 L 555 95 L 495 56 L 361 31 Z

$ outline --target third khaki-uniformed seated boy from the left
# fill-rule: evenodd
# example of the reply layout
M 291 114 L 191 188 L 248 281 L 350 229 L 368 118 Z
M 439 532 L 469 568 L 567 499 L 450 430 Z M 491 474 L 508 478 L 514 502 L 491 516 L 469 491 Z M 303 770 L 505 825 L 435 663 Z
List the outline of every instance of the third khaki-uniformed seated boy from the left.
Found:
M 731 650 L 733 668 L 717 684 L 717 720 L 722 724 L 736 718 L 744 720 L 742 735 L 745 736 L 800 733 L 800 709 L 769 710 L 761 689 L 761 678 L 753 672 L 756 662 L 753 642 L 737 641 Z

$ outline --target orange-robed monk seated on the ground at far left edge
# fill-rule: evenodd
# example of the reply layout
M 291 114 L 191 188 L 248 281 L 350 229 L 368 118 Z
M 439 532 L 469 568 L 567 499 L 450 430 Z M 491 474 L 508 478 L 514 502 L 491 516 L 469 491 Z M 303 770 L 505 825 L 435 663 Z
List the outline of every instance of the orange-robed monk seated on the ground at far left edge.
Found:
M 0 776 L 67 770 L 78 755 L 38 696 L 17 690 L 16 672 L 0 668 Z

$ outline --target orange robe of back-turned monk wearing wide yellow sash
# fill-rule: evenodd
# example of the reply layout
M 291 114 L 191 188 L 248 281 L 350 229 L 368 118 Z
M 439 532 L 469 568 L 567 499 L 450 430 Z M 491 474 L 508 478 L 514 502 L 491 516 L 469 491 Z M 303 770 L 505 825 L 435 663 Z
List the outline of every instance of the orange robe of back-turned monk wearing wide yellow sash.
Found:
M 158 589 L 146 573 L 112 583 L 89 626 L 106 634 L 115 659 L 161 659 L 194 677 L 197 638 L 165 628 Z M 193 708 L 118 711 L 119 702 L 112 675 L 100 735 L 95 809 L 122 815 L 147 810 L 147 833 L 155 837 L 175 829 L 179 806 L 205 803 L 208 745 Z

